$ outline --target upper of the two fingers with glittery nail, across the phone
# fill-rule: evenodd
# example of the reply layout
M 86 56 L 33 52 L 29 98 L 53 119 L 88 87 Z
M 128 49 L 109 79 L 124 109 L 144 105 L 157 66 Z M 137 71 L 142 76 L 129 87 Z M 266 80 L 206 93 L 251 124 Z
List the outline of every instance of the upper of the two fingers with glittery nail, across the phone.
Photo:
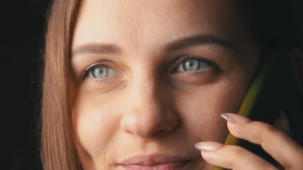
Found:
M 285 168 L 303 167 L 303 148 L 285 133 L 259 121 L 241 124 L 237 120 L 243 119 L 243 116 L 237 114 L 225 115 L 233 120 L 229 120 L 228 128 L 234 136 L 260 144 L 268 154 Z

